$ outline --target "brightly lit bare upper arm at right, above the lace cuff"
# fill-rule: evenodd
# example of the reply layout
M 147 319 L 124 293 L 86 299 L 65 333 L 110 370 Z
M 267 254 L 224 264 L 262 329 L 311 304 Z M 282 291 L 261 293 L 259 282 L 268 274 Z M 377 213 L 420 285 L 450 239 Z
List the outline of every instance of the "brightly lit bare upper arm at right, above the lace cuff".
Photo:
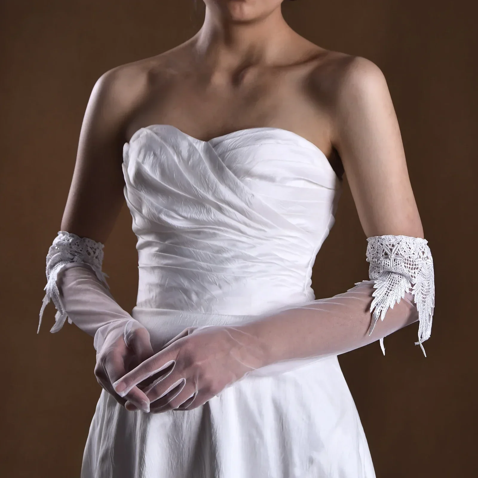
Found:
M 344 73 L 334 108 L 333 143 L 367 237 L 424 237 L 413 197 L 398 121 L 380 69 L 355 58 Z

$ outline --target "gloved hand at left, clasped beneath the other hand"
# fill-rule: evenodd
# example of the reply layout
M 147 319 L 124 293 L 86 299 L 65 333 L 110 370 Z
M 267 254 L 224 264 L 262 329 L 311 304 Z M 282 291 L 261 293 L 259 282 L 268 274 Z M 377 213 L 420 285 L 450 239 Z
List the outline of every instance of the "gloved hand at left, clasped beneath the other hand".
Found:
M 137 320 L 118 320 L 106 324 L 95 334 L 97 359 L 95 376 L 98 383 L 122 406 L 123 399 L 113 389 L 113 383 L 130 370 L 153 355 L 148 330 Z M 150 402 L 147 396 L 138 388 L 128 401 L 139 410 L 149 412 Z

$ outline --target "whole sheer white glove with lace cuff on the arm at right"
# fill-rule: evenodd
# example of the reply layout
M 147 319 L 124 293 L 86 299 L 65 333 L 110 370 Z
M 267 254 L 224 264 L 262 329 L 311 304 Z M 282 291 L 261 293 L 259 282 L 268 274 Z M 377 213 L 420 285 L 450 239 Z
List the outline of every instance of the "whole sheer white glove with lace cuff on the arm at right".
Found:
M 115 391 L 129 400 L 144 380 L 153 379 L 144 389 L 152 412 L 191 410 L 250 374 L 291 370 L 379 339 L 385 354 L 383 337 L 416 320 L 420 320 L 417 344 L 423 349 L 435 304 L 427 241 L 406 236 L 368 240 L 371 280 L 358 282 L 346 293 L 284 307 L 248 323 L 188 327 L 115 382 Z M 126 408 L 134 409 L 128 403 Z

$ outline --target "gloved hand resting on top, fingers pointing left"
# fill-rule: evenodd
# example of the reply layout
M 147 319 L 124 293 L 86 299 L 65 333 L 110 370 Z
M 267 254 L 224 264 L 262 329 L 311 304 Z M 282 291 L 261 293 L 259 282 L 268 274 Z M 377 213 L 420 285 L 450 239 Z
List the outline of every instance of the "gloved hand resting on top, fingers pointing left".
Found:
M 245 330 L 233 326 L 188 327 L 113 387 L 128 400 L 139 385 L 152 413 L 197 408 L 265 364 L 261 341 Z M 141 382 L 147 379 L 153 381 L 142 388 Z M 126 408 L 136 410 L 131 403 Z

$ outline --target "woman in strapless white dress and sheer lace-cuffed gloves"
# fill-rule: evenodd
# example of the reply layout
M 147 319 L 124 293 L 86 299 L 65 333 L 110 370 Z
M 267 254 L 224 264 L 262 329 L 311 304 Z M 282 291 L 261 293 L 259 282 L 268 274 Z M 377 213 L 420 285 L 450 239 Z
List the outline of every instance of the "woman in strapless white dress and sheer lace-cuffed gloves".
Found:
M 98 80 L 47 256 L 41 315 L 52 298 L 52 332 L 94 337 L 104 389 L 81 476 L 374 477 L 337 355 L 417 320 L 423 349 L 434 307 L 385 79 L 293 32 L 282 0 L 205 3 L 193 38 Z M 369 280 L 315 300 L 344 171 Z M 123 196 L 131 315 L 101 270 Z

